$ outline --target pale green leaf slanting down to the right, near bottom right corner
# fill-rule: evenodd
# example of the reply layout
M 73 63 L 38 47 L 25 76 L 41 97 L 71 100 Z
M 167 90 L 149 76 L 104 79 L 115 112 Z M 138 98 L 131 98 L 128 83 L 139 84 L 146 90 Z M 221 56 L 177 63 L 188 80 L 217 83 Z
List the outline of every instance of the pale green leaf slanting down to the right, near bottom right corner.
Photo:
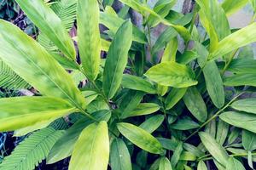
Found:
M 226 150 L 216 142 L 215 139 L 209 133 L 201 132 L 199 133 L 201 142 L 213 156 L 213 158 L 222 164 L 224 167 L 227 163 L 229 155 L 227 154 Z

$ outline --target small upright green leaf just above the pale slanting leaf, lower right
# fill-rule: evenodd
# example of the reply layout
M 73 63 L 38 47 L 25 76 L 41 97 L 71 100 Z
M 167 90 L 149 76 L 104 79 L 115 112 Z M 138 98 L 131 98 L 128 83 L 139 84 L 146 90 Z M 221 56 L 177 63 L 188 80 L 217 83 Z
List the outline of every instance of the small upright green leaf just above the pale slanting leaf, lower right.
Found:
M 225 139 L 228 136 L 229 133 L 229 124 L 222 121 L 221 119 L 218 120 L 218 128 L 217 128 L 217 133 L 216 133 L 216 141 L 218 144 L 224 144 Z

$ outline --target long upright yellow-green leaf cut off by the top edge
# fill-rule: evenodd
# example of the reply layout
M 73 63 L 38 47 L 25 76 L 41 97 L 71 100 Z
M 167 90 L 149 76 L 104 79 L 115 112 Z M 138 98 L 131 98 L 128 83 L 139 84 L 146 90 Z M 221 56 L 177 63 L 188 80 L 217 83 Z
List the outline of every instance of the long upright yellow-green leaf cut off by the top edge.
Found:
M 96 0 L 78 1 L 79 54 L 86 77 L 95 80 L 100 69 L 100 9 Z

